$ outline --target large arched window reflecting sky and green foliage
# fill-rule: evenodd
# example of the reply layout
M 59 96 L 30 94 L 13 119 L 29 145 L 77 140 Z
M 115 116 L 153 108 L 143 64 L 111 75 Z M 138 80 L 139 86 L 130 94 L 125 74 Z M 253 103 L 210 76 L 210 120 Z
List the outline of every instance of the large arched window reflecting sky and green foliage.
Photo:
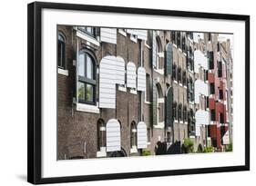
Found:
M 78 102 L 96 105 L 96 59 L 87 50 L 78 56 Z

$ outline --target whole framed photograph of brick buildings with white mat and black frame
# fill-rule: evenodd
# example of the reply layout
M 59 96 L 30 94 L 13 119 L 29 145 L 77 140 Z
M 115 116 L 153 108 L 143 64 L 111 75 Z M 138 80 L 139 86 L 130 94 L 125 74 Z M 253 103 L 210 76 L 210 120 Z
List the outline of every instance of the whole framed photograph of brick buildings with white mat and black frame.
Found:
M 250 170 L 250 16 L 28 5 L 31 183 Z

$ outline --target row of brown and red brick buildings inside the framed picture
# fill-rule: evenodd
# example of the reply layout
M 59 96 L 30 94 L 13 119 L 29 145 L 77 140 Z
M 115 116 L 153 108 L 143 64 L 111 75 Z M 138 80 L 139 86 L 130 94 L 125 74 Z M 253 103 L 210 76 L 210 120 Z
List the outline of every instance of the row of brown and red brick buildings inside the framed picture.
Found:
M 219 34 L 57 26 L 57 159 L 223 151 L 230 40 Z

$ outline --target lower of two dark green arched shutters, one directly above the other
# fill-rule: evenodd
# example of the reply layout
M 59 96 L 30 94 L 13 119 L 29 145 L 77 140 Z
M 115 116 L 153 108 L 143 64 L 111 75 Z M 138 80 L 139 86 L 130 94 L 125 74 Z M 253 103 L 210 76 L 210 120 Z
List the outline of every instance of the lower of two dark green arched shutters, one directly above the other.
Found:
M 166 125 L 172 126 L 173 116 L 172 116 L 172 103 L 173 103 L 173 89 L 169 87 L 166 99 Z

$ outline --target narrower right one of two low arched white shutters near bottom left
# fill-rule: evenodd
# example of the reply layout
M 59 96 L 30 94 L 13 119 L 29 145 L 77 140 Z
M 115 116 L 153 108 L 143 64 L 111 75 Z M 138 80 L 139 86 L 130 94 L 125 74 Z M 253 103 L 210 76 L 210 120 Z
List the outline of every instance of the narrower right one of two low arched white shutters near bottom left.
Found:
M 138 135 L 138 149 L 147 148 L 147 125 L 145 122 L 138 122 L 137 125 L 137 135 Z

